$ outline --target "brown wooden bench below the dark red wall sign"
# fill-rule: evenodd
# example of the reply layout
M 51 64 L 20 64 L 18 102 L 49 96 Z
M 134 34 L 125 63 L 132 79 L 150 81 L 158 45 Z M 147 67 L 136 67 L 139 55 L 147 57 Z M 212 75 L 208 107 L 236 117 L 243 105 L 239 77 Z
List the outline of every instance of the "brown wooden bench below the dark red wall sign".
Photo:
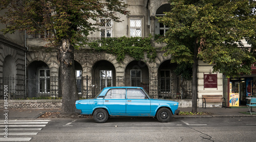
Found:
M 202 100 L 203 100 L 203 108 L 205 106 L 206 108 L 206 102 L 221 102 L 222 103 L 222 107 L 223 107 L 223 103 L 225 103 L 225 107 L 226 106 L 226 99 L 222 97 L 222 95 L 202 95 Z

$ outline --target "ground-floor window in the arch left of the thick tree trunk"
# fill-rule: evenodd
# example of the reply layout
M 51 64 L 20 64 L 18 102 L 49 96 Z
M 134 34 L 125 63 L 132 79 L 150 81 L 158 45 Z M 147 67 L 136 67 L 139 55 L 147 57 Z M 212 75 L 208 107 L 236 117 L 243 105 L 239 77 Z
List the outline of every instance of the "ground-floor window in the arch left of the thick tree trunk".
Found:
M 39 93 L 50 93 L 50 70 L 39 69 L 38 85 Z

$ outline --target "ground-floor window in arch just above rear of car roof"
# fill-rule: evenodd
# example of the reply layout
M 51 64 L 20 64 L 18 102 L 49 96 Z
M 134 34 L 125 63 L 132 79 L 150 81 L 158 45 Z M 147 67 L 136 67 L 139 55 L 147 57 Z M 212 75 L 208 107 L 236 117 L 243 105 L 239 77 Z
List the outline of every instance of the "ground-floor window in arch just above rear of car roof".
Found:
M 112 70 L 100 70 L 100 90 L 112 87 Z

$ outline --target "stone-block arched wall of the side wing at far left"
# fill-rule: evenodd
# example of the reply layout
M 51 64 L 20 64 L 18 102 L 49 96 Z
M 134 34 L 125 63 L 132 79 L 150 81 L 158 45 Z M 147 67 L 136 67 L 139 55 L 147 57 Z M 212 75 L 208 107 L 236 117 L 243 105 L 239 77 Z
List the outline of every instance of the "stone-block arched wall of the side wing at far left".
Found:
M 8 85 L 9 99 L 24 97 L 24 52 L 26 48 L 0 38 L 0 86 Z M 17 81 L 18 78 L 18 81 Z M 0 98 L 4 98 L 4 93 L 0 91 Z

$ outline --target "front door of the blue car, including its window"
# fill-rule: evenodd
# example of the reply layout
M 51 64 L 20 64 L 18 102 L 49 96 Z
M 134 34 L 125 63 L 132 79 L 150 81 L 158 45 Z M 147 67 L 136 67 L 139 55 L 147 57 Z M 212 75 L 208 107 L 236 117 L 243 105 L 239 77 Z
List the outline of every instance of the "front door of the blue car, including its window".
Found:
M 150 99 L 141 89 L 127 89 L 126 114 L 127 116 L 149 116 Z

